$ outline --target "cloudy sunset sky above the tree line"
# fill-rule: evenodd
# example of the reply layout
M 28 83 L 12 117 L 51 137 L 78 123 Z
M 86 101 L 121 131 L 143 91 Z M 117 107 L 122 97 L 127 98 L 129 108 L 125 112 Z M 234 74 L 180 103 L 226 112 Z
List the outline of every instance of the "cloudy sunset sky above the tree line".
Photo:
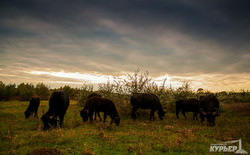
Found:
M 250 90 L 249 0 L 2 0 L 0 81 Z

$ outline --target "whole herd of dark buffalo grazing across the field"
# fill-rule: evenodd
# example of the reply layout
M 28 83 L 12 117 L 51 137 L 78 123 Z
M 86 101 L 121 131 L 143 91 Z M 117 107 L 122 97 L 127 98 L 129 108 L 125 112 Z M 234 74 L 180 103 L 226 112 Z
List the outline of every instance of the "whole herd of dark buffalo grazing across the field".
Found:
M 159 98 L 154 94 L 147 93 L 134 93 L 130 102 L 132 105 L 131 117 L 133 120 L 136 119 L 136 110 L 141 109 L 150 109 L 150 120 L 154 117 L 154 112 L 158 111 L 158 116 L 160 120 L 165 116 L 165 112 L 161 106 Z M 27 110 L 24 112 L 25 117 L 29 118 L 31 115 L 37 117 L 37 110 L 40 105 L 39 97 L 33 97 L 30 100 Z M 41 120 L 44 124 L 44 130 L 49 129 L 51 126 L 56 127 L 57 122 L 60 123 L 60 127 L 63 124 L 64 115 L 69 106 L 69 96 L 64 91 L 56 91 L 52 93 L 49 99 L 49 109 L 41 117 Z M 200 116 L 201 122 L 207 119 L 207 124 L 209 126 L 215 125 L 215 118 L 219 116 L 219 101 L 214 94 L 207 94 L 201 96 L 198 99 L 189 98 L 181 99 L 176 101 L 176 116 L 179 118 L 179 112 L 181 111 L 183 116 L 186 118 L 185 112 L 193 112 L 193 119 L 198 119 L 198 114 Z M 103 122 L 107 118 L 107 115 L 110 116 L 111 122 L 114 122 L 117 126 L 120 123 L 120 117 L 116 110 L 115 104 L 106 98 L 103 98 L 102 95 L 97 93 L 92 93 L 87 97 L 86 105 L 83 110 L 80 111 L 80 116 L 82 117 L 83 122 L 90 119 L 90 123 L 93 123 L 93 114 L 98 115 L 100 121 L 102 121 L 99 112 L 104 112 Z M 59 120 L 57 119 L 59 117 Z

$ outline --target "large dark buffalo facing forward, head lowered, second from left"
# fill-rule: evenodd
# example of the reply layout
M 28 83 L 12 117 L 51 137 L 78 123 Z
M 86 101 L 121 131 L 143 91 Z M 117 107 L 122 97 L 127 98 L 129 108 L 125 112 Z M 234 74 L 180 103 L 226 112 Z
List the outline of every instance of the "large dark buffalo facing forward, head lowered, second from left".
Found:
M 69 106 L 69 96 L 64 91 L 54 92 L 49 99 L 49 110 L 42 116 L 44 130 L 51 126 L 57 126 L 57 117 L 60 119 L 60 127 L 63 124 L 64 115 Z

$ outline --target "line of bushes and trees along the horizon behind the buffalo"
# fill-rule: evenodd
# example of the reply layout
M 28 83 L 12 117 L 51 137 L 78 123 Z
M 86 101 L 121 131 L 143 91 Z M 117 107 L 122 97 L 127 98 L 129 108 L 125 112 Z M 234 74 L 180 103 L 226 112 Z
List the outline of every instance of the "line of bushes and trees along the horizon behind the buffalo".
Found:
M 113 100 L 115 103 L 128 105 L 130 95 L 133 93 L 153 93 L 156 94 L 163 106 L 170 111 L 174 111 L 176 100 L 183 98 L 199 98 L 208 90 L 199 88 L 197 91 L 191 88 L 189 82 L 183 82 L 182 86 L 173 88 L 167 86 L 167 80 L 163 80 L 162 84 L 156 84 L 149 76 L 149 72 L 140 72 L 137 69 L 134 73 L 127 74 L 124 79 L 113 79 L 106 83 L 101 83 L 95 90 L 103 97 Z M 32 83 L 4 84 L 0 81 L 0 101 L 20 100 L 28 101 L 32 96 L 39 96 L 41 100 L 48 100 L 50 94 L 56 90 L 65 91 L 70 99 L 78 101 L 80 106 L 84 106 L 87 96 L 94 91 L 92 84 L 83 84 L 81 88 L 72 88 L 71 86 L 63 86 L 51 89 L 44 83 L 33 85 Z M 215 93 L 217 98 L 224 103 L 232 102 L 250 102 L 250 93 L 245 90 L 241 91 L 222 91 Z

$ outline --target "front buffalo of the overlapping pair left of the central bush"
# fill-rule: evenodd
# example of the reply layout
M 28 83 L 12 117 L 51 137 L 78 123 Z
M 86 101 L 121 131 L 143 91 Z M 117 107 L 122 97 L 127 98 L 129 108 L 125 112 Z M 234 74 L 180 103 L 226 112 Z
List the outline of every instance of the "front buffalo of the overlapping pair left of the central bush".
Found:
M 101 98 L 98 96 L 94 96 L 94 97 L 87 99 L 86 106 L 81 111 L 81 116 L 82 116 L 83 121 L 84 122 L 87 121 L 89 117 L 90 123 L 92 123 L 94 112 L 97 112 L 97 113 L 104 112 L 103 123 L 105 123 L 106 117 L 107 115 L 109 115 L 111 118 L 110 125 L 112 125 L 112 123 L 115 122 L 115 124 L 119 126 L 120 117 L 118 115 L 118 112 L 115 108 L 114 103 L 111 100 L 106 99 L 106 98 Z

